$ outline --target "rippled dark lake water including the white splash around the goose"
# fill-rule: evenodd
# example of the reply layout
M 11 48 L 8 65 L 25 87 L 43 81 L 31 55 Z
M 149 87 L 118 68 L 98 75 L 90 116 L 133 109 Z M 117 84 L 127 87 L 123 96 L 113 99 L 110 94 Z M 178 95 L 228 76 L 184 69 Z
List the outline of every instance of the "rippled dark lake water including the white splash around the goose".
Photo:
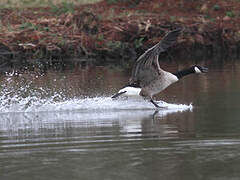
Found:
M 240 61 L 198 64 L 209 73 L 160 93 L 158 111 L 111 100 L 128 70 L 1 75 L 0 179 L 239 179 Z

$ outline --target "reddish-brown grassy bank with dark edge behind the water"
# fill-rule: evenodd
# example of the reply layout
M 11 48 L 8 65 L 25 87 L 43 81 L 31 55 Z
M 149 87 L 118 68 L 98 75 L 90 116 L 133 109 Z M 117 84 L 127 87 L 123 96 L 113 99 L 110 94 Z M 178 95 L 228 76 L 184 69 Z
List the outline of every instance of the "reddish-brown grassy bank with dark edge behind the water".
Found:
M 55 64 L 131 65 L 170 30 L 166 59 L 239 57 L 240 0 L 4 0 L 0 71 Z

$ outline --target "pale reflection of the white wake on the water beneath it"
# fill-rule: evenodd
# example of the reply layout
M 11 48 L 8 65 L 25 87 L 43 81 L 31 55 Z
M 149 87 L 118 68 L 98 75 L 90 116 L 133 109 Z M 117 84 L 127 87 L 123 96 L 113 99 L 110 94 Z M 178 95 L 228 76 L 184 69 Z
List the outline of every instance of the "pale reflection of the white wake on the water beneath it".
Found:
M 182 117 L 184 119 L 184 111 L 189 112 L 191 109 L 8 113 L 0 115 L 0 131 L 10 136 L 26 133 L 28 135 L 44 135 L 50 132 L 56 134 L 87 132 L 92 134 L 96 131 L 104 133 L 106 130 L 125 136 L 140 136 L 146 132 L 163 135 L 173 131 L 178 132 L 178 127 L 174 125 L 178 120 L 172 121 L 171 119 L 182 119 Z M 183 126 L 185 126 L 184 123 Z

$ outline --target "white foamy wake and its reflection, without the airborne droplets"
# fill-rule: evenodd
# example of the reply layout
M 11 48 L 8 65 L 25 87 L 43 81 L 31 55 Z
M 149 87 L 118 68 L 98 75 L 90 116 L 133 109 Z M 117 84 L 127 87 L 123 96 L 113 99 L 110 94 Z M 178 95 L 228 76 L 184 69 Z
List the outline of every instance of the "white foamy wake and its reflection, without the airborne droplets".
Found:
M 158 104 L 163 108 L 156 111 L 156 108 L 146 101 L 113 101 L 110 97 L 72 99 L 61 102 L 49 99 L 43 103 L 36 100 L 27 108 L 23 108 L 26 106 L 25 103 L 27 100 L 23 99 L 18 101 L 17 105 L 1 108 L 1 131 L 16 135 L 19 130 L 24 130 L 24 132 L 30 130 L 31 133 L 38 134 L 42 129 L 61 127 L 59 131 L 62 131 L 68 126 L 74 128 L 112 127 L 120 124 L 122 131 L 135 132 L 141 131 L 141 122 L 144 119 L 163 118 L 168 114 L 192 108 L 192 105 L 168 104 L 161 101 Z

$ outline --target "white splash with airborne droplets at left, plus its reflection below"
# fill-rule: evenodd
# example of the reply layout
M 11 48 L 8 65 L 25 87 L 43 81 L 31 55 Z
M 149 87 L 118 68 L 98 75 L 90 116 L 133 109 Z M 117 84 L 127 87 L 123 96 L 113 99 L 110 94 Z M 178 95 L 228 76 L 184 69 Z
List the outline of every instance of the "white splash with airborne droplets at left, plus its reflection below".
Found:
M 6 76 L 2 80 L 0 86 L 1 131 L 18 133 L 19 130 L 24 132 L 31 130 L 39 133 L 42 129 L 61 131 L 65 126 L 83 128 L 120 124 L 123 131 L 132 132 L 141 130 L 143 119 L 152 119 L 155 115 L 162 118 L 170 113 L 192 109 L 191 104 L 157 101 L 161 108 L 156 114 L 157 109 L 149 101 L 113 100 L 110 95 L 85 97 L 78 91 L 80 88 L 76 84 L 66 85 L 68 81 L 64 80 L 59 83 L 60 86 L 57 86 L 52 79 L 49 83 L 49 79 L 43 77 L 39 83 L 35 76 L 28 75 Z M 71 94 L 73 91 L 70 91 L 69 87 L 73 87 L 77 93 Z

